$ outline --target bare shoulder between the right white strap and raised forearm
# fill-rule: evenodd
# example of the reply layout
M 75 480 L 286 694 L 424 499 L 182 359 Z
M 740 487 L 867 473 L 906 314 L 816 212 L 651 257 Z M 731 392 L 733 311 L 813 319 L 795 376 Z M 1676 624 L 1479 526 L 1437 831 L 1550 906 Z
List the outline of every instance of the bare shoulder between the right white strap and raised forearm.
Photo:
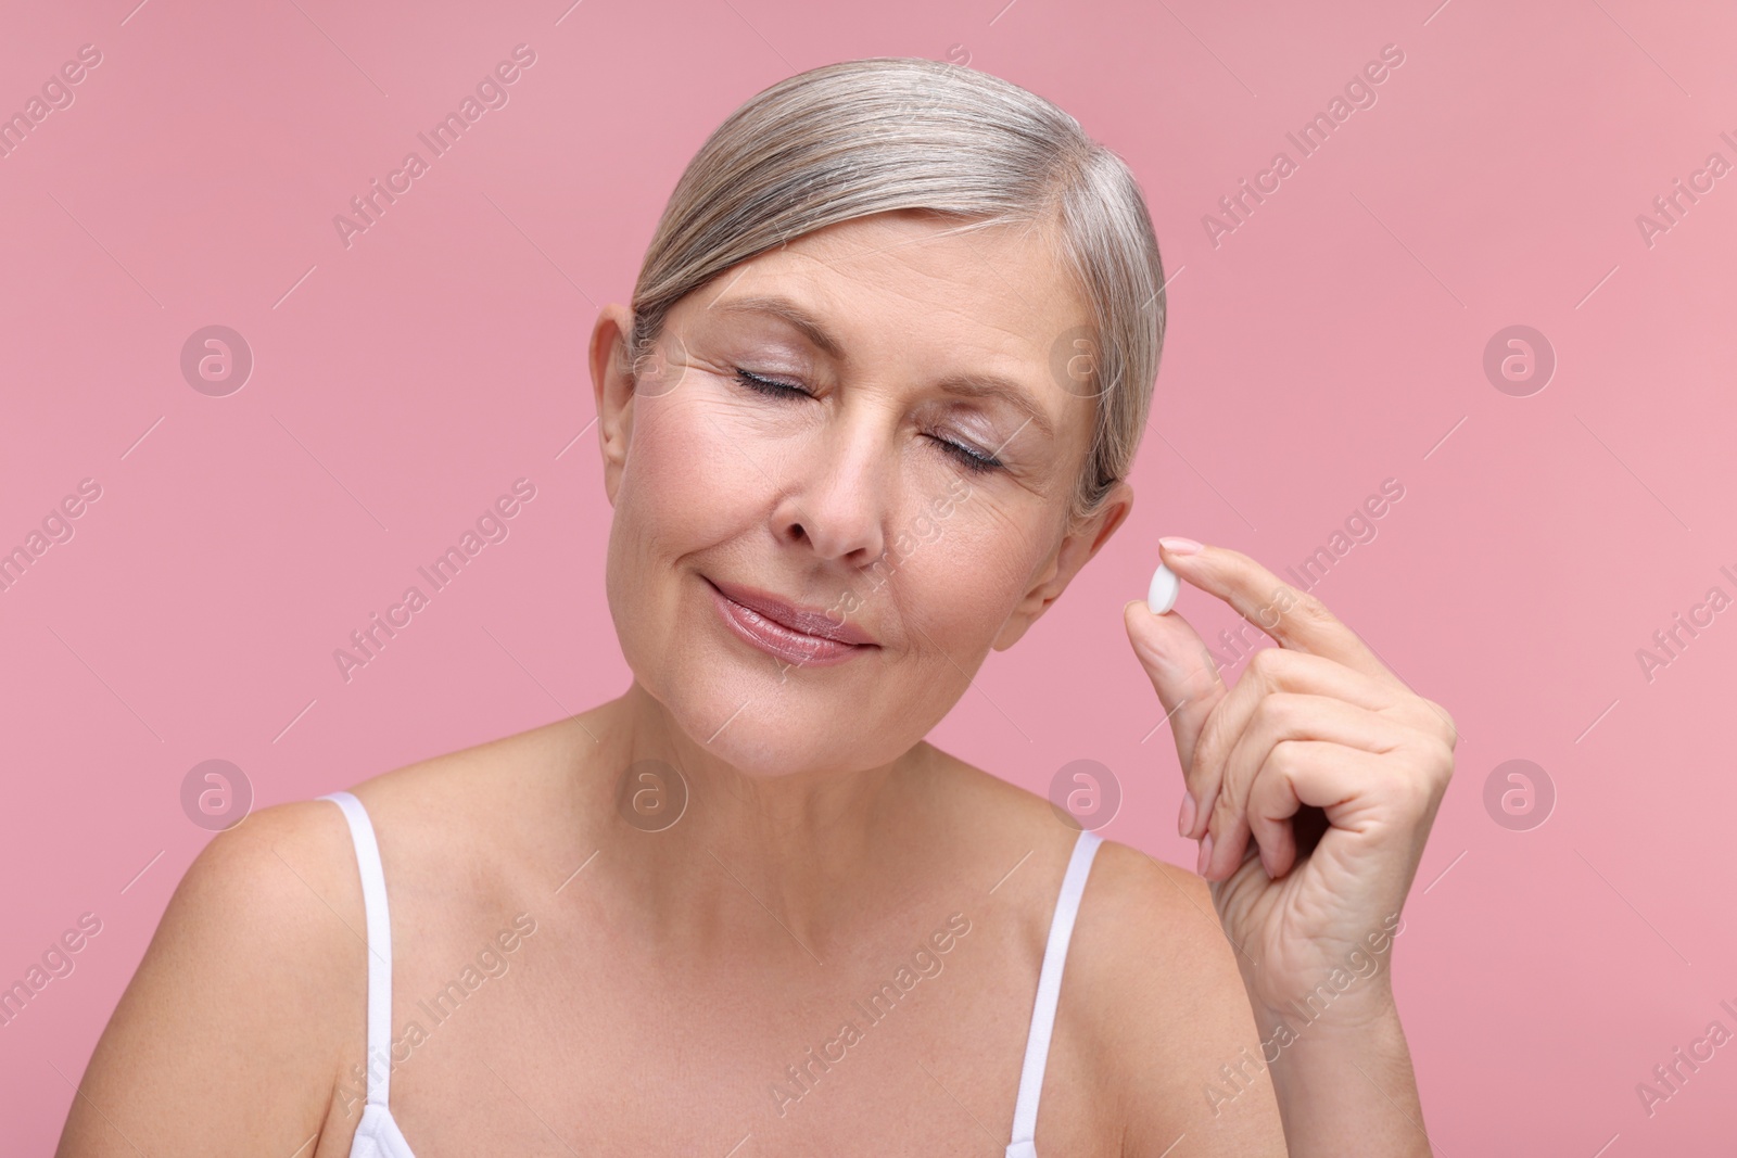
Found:
M 1068 972 L 1101 1043 L 1093 1078 L 1124 1108 L 1124 1153 L 1159 1155 L 1179 1135 L 1197 1155 L 1285 1153 L 1238 951 L 1205 880 L 1103 842 Z

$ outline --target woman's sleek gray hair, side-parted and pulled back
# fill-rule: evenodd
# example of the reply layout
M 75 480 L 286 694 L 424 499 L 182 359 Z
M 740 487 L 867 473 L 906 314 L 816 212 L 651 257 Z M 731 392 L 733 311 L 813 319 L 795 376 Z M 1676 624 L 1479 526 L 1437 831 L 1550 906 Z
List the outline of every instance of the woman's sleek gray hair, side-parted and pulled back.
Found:
M 1051 363 L 1065 389 L 1098 399 L 1068 519 L 1096 514 L 1127 476 L 1152 408 L 1164 345 L 1159 241 L 1117 153 L 1044 97 L 962 64 L 825 64 L 731 113 L 676 182 L 646 248 L 631 363 L 650 352 L 677 300 L 731 266 L 891 210 L 928 210 L 964 229 L 1060 226 L 1051 236 L 1093 326 L 1086 339 L 1060 335 Z

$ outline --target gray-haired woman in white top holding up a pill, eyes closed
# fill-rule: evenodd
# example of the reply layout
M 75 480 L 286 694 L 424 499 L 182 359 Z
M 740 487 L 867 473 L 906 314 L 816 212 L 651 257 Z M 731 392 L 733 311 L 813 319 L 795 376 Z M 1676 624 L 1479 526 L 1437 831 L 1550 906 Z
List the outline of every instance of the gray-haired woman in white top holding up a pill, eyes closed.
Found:
M 1166 540 L 1280 644 L 1233 689 L 1122 609 L 1199 877 L 922 740 L 1127 517 L 1162 281 L 1014 85 L 749 101 L 591 339 L 632 684 L 212 840 L 61 1155 L 1428 1155 L 1381 958 L 1454 729 L 1318 601 Z

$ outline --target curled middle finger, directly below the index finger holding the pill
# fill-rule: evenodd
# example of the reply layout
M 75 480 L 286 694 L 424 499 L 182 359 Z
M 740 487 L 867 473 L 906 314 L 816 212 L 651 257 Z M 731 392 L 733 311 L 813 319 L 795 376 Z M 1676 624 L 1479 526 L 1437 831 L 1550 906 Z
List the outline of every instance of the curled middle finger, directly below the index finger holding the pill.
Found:
M 1185 837 L 1199 840 L 1205 832 L 1225 778 L 1225 762 L 1261 700 L 1275 691 L 1332 696 L 1376 712 L 1393 708 L 1398 700 L 1390 684 L 1374 681 L 1334 660 L 1306 651 L 1261 648 L 1200 731 L 1188 781 L 1190 792 L 1195 793 L 1197 813 L 1193 825 L 1183 832 Z

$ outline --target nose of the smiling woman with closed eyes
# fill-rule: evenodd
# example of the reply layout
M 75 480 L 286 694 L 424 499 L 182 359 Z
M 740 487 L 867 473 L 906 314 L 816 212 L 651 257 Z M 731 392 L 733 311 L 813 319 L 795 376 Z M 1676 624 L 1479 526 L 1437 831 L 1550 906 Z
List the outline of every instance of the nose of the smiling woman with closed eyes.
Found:
M 816 431 L 792 467 L 794 484 L 778 500 L 780 538 L 808 540 L 816 556 L 863 568 L 886 554 L 893 500 L 893 450 L 867 413 L 837 417 Z

